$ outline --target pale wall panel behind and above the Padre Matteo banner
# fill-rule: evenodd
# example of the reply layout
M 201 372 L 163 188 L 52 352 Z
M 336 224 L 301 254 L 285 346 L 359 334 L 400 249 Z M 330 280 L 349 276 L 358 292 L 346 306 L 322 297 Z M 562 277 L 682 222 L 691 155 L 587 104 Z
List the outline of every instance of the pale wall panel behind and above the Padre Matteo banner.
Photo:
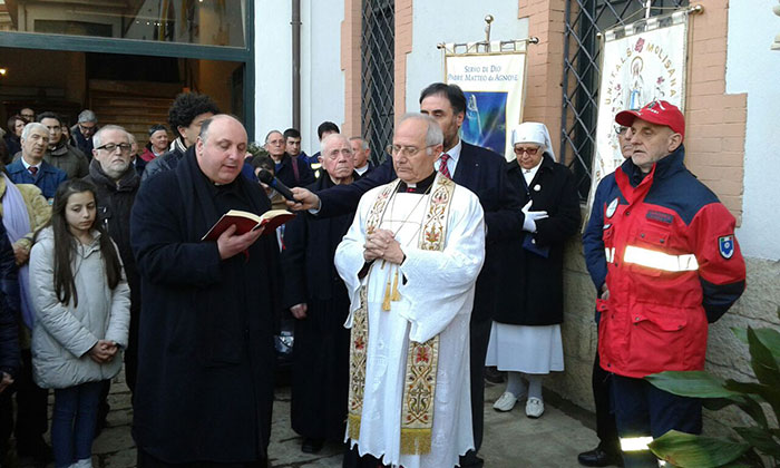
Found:
M 528 20 L 517 19 L 517 2 L 507 0 L 460 1 L 442 8 L 433 1 L 416 1 L 412 16 L 412 51 L 407 56 L 407 110 L 420 107 L 420 91 L 445 79 L 439 42 L 485 40 L 485 17 L 493 14 L 491 40 L 525 39 Z M 533 47 L 533 46 L 530 46 Z

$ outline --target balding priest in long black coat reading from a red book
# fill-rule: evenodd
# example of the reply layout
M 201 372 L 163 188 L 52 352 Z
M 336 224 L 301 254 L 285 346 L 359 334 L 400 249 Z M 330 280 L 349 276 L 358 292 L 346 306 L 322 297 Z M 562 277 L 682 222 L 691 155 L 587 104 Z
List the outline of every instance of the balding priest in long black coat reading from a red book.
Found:
M 262 228 L 237 235 L 233 226 L 201 241 L 228 209 L 271 207 L 240 176 L 246 140 L 235 118 L 207 119 L 178 166 L 136 196 L 138 466 L 267 462 L 279 246 Z

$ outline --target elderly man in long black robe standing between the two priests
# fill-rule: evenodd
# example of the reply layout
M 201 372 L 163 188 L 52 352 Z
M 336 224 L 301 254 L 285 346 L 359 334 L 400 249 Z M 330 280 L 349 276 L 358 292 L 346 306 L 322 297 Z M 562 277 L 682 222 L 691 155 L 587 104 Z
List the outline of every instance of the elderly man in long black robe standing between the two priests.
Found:
M 324 173 L 310 191 L 360 177 L 343 135 L 322 140 L 320 159 Z M 291 419 L 293 430 L 303 436 L 302 450 L 309 454 L 319 451 L 324 440 L 344 439 L 350 376 L 350 331 L 344 321 L 350 300 L 333 256 L 353 216 L 354 212 L 328 218 L 301 215 L 284 232 L 282 305 L 296 319 Z

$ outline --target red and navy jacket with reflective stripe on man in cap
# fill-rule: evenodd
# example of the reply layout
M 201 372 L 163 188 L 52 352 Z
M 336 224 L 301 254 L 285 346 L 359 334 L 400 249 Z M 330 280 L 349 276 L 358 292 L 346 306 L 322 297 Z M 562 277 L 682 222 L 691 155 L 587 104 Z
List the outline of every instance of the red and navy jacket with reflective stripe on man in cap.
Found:
M 681 146 L 646 176 L 628 159 L 599 197 L 610 295 L 597 304 L 598 352 L 610 372 L 703 369 L 708 316 L 744 289 L 734 217 L 683 157 Z

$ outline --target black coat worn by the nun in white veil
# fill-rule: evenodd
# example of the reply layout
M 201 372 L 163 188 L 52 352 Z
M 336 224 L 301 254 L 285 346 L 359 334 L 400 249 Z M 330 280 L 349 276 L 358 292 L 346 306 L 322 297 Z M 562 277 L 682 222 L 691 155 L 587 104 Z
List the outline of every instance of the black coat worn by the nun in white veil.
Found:
M 545 154 L 542 166 L 526 187 L 516 160 L 507 163 L 507 178 L 519 187 L 523 205 L 533 199 L 530 211 L 546 211 L 536 222 L 537 232 L 526 231 L 503 245 L 498 306 L 494 320 L 516 325 L 553 325 L 564 320 L 564 243 L 579 227 L 579 197 L 572 172 Z M 530 237 L 526 240 L 526 237 Z M 523 246 L 533 242 L 544 257 Z

